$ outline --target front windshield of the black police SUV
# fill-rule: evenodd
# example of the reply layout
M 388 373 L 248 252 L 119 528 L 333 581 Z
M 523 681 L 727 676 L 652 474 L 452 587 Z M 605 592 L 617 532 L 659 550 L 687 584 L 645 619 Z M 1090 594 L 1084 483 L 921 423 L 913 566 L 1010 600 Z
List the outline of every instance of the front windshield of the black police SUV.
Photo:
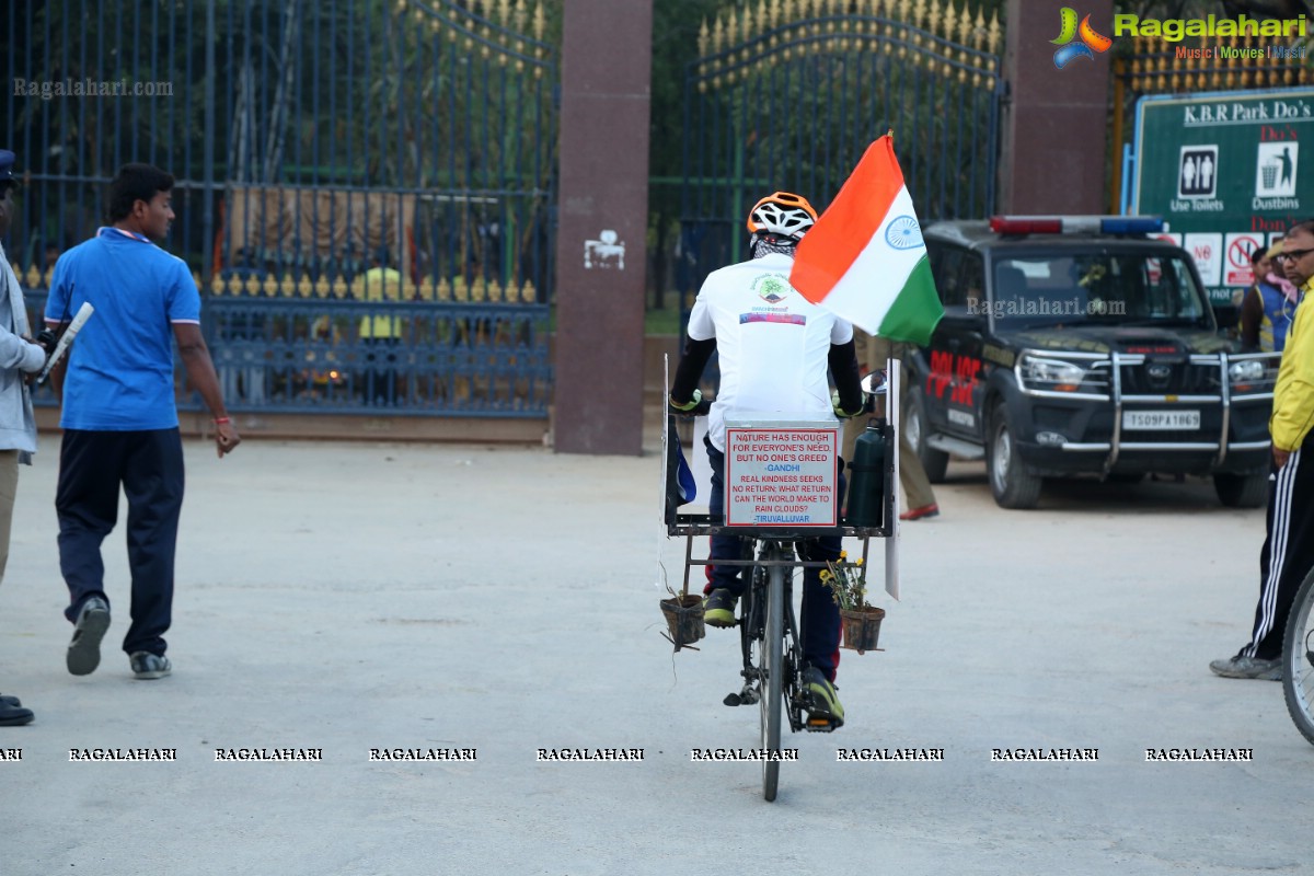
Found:
M 1071 324 L 1198 326 L 1209 302 L 1184 255 L 1009 252 L 993 265 L 991 313 L 1004 328 Z

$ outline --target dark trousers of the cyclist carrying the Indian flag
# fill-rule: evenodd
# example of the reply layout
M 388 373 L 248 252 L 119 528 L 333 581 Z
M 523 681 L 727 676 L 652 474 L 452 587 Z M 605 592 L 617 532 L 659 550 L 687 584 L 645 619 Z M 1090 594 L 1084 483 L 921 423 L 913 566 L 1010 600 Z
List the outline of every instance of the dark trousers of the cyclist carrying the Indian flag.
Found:
M 707 461 L 712 465 L 712 491 L 708 496 L 708 514 L 714 521 L 720 523 L 725 514 L 725 454 L 712 447 L 708 439 L 703 439 L 707 447 Z M 840 469 L 840 493 L 845 491 L 844 468 Z M 711 536 L 711 550 L 708 559 L 748 559 L 745 556 L 746 540 L 742 536 Z M 838 536 L 825 536 L 821 538 L 808 538 L 799 542 L 799 556 L 803 559 L 823 561 L 838 559 L 842 538 Z M 707 591 L 724 587 L 736 596 L 744 595 L 745 566 L 707 566 Z M 821 583 L 820 569 L 803 570 L 803 613 L 799 616 L 799 645 L 803 650 L 803 661 L 823 672 L 832 682 L 836 668 L 840 666 L 840 607 L 836 605 L 830 591 Z

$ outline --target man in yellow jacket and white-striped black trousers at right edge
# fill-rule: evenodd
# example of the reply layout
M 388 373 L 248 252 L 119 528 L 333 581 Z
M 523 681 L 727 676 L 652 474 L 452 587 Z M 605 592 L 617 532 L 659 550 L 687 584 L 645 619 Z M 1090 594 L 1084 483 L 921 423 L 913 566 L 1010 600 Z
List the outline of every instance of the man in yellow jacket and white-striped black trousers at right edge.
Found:
M 1282 239 L 1286 278 L 1303 298 L 1314 289 L 1314 221 L 1293 226 Z M 1296 591 L 1314 567 L 1314 307 L 1297 307 L 1273 387 L 1273 466 L 1268 491 L 1268 535 L 1260 552 L 1259 604 L 1251 641 L 1235 657 L 1209 668 L 1225 678 L 1282 678 L 1282 633 Z

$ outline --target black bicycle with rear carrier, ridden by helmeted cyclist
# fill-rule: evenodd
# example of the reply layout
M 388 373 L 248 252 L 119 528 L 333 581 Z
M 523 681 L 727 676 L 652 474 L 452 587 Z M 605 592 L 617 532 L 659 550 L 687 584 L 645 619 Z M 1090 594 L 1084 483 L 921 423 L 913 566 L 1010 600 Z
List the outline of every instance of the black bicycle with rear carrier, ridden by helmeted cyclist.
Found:
M 891 362 L 890 385 L 897 386 L 897 362 Z M 884 394 L 884 386 L 874 386 L 865 381 L 869 395 Z M 897 398 L 895 390 L 894 398 Z M 890 403 L 886 403 L 890 408 Z M 890 453 L 886 457 L 884 494 L 882 496 L 883 521 L 879 527 L 857 527 L 841 524 L 827 532 L 804 531 L 790 527 L 733 527 L 716 521 L 711 515 L 677 514 L 668 524 L 668 535 L 686 537 L 685 549 L 685 588 L 689 592 L 691 566 L 710 565 L 710 559 L 692 556 L 695 536 L 712 536 L 735 532 L 744 536 L 748 558 L 717 559 L 721 566 L 742 566 L 749 570 L 748 586 L 740 600 L 740 649 L 742 655 L 742 687 L 738 692 L 725 696 L 723 703 L 729 707 L 758 705 L 758 729 L 761 749 L 757 756 L 762 763 L 762 796 L 770 802 L 777 797 L 779 771 L 784 754 L 781 749 L 783 721 L 788 718 L 790 732 L 832 732 L 842 722 L 828 716 L 813 716 L 809 711 L 809 695 L 803 684 L 803 651 L 794 615 L 792 570 L 825 567 L 824 561 L 807 559 L 807 549 L 802 542 L 819 535 L 841 535 L 862 538 L 863 566 L 867 565 L 871 537 L 886 541 L 887 590 L 896 591 L 897 549 L 894 536 L 897 535 L 897 441 L 894 439 L 897 428 L 897 412 L 887 410 L 894 422 L 887 419 L 882 427 Z M 727 494 L 729 495 L 729 494 Z M 796 557 L 798 554 L 798 557 Z M 786 573 L 790 570 L 790 574 Z M 894 587 L 892 587 L 894 586 Z M 677 645 L 678 647 L 678 645 Z

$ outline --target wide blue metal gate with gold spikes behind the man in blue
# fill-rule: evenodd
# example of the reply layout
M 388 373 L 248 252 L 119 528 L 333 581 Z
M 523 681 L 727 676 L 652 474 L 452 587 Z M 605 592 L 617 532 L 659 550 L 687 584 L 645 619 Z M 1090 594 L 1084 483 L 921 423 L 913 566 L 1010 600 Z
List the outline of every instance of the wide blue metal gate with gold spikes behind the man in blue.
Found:
M 34 306 L 114 171 L 150 162 L 233 410 L 545 416 L 543 0 L 16 4 L 3 146 Z

